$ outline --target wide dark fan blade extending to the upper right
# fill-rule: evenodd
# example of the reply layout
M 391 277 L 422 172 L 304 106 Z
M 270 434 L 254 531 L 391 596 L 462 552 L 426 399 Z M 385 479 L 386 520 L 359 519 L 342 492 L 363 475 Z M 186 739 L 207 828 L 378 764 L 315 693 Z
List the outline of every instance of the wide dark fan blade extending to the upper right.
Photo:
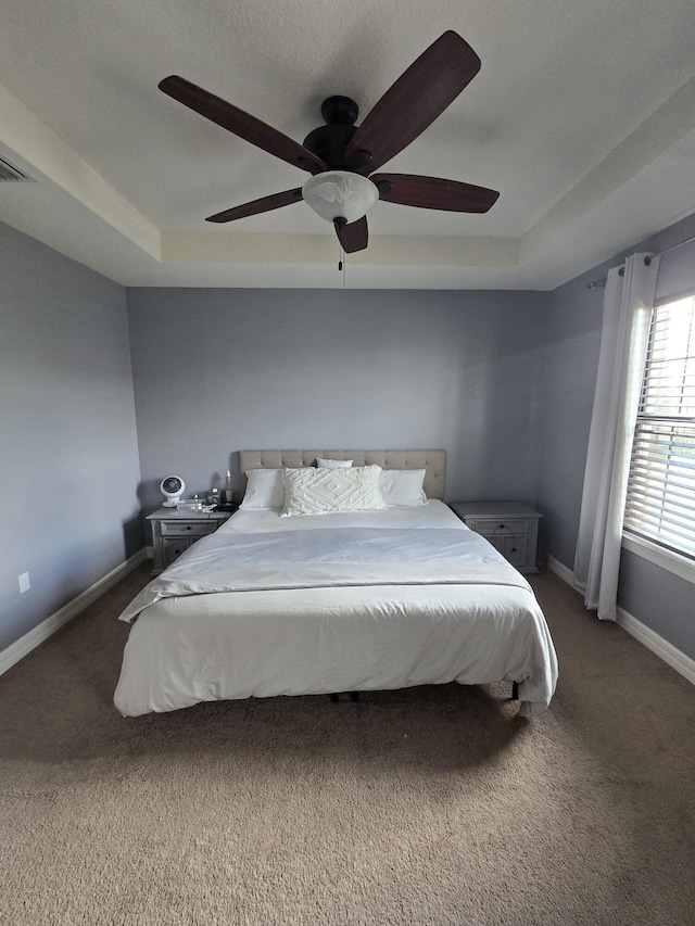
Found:
M 370 174 L 425 131 L 480 69 L 480 59 L 459 35 L 446 31 L 413 62 L 354 134 L 344 160 Z

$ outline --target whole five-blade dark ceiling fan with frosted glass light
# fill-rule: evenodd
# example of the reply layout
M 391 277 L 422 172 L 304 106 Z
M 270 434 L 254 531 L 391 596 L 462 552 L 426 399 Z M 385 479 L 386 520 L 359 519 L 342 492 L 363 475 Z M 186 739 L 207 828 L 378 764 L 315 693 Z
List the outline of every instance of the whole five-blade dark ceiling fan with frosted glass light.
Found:
M 484 213 L 498 192 L 457 180 L 413 174 L 375 174 L 443 113 L 480 69 L 480 59 L 454 31 L 440 36 L 391 86 L 356 126 L 358 107 L 349 97 L 321 104 L 325 126 L 299 144 L 255 116 L 182 77 L 159 85 L 169 97 L 269 154 L 307 170 L 303 187 L 285 190 L 211 215 L 225 223 L 304 200 L 332 221 L 346 253 L 367 246 L 366 214 L 377 200 L 462 213 Z

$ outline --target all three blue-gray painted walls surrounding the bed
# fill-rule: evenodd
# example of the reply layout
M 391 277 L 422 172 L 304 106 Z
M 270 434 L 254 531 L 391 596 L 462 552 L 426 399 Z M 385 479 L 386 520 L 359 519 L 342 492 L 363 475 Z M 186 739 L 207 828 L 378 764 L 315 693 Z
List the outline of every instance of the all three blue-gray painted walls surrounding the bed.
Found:
M 641 246 L 694 233 L 695 216 Z M 238 486 L 244 447 L 443 447 L 448 499 L 538 505 L 572 568 L 602 322 L 586 282 L 622 255 L 554 293 L 124 293 L 2 225 L 0 253 L 0 649 L 141 548 L 163 475 L 203 493 L 229 467 Z M 674 252 L 659 292 L 692 267 Z M 622 607 L 695 658 L 692 591 L 623 553 Z

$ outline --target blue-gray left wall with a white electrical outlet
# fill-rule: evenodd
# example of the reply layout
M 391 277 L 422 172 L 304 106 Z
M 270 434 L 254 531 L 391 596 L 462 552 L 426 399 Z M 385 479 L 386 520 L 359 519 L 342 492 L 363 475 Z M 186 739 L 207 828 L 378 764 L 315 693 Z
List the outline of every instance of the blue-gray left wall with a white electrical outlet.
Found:
M 0 649 L 141 548 L 138 480 L 123 288 L 0 224 Z

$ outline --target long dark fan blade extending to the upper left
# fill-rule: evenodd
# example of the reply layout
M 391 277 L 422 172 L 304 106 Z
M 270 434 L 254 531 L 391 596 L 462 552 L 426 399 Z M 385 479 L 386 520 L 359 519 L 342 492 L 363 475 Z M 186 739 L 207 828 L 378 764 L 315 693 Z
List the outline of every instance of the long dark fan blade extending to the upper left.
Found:
M 228 129 L 239 138 L 255 144 L 256 148 L 262 148 L 269 154 L 287 161 L 288 164 L 301 167 L 302 170 L 308 170 L 309 174 L 318 174 L 327 169 L 320 157 L 312 154 L 304 145 L 299 144 L 299 142 L 266 125 L 255 116 L 232 106 L 226 100 L 197 87 L 184 77 L 176 75 L 165 77 L 159 87 L 164 93 L 178 100 L 179 103 L 184 103 L 190 110 L 200 113 L 201 116 L 205 116 L 205 118 Z

